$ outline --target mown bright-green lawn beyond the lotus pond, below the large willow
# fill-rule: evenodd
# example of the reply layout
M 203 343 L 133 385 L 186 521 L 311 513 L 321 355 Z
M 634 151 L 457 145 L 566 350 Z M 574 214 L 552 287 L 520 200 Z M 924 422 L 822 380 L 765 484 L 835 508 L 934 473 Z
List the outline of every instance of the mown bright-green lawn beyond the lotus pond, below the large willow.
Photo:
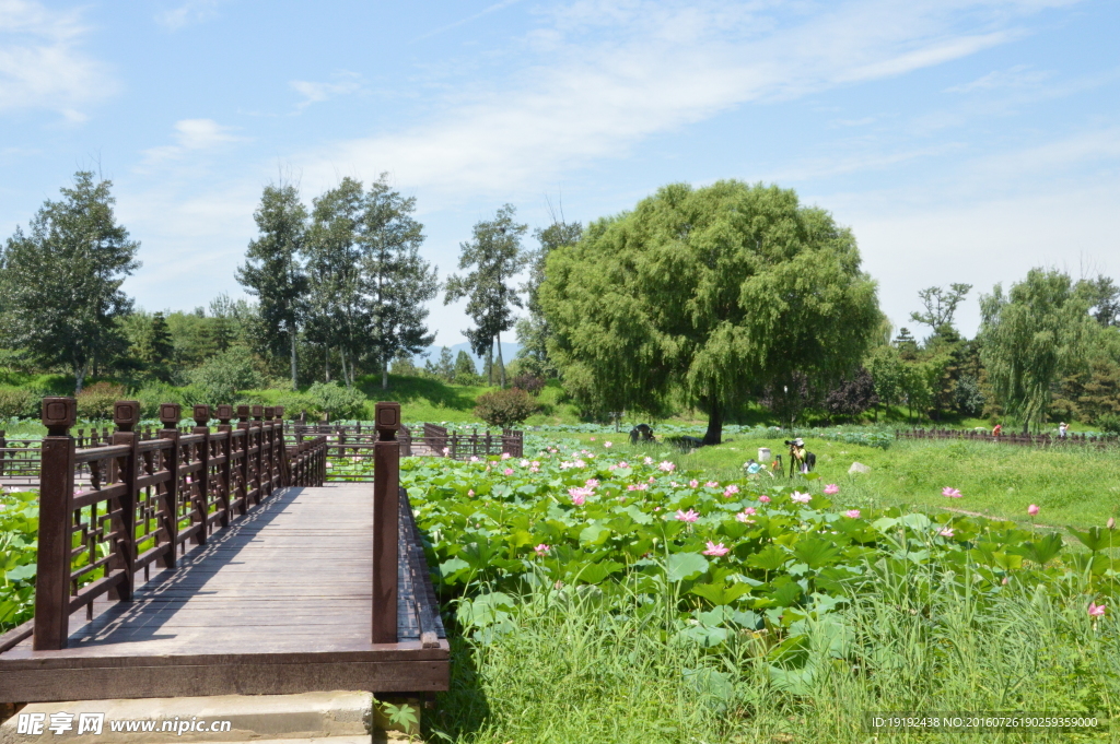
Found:
M 697 433 L 701 432 L 698 428 Z M 784 454 L 786 449 L 782 439 L 734 434 L 725 437 L 724 444 L 692 454 L 659 444 L 631 448 L 625 432 L 571 436 L 600 449 L 604 441 L 610 441 L 614 452 L 632 452 L 634 456 L 668 458 L 717 480 L 739 478 L 743 463 L 757 458 L 759 446 L 771 448 L 774 454 Z M 840 495 L 834 500 L 847 506 L 951 508 L 1014 519 L 1024 526 L 1090 527 L 1104 525 L 1109 517 L 1120 520 L 1120 451 L 1114 448 L 1046 450 L 983 442 L 899 441 L 884 450 L 813 436 L 806 436 L 805 443 L 816 454 L 821 478 L 812 484 L 800 478 L 795 482 L 811 486 L 808 490 L 813 491 L 824 483 L 837 483 Z M 853 462 L 868 465 L 871 472 L 849 475 Z M 943 497 L 946 486 L 960 489 L 963 498 Z M 1034 519 L 1027 517 L 1032 503 L 1040 509 Z

